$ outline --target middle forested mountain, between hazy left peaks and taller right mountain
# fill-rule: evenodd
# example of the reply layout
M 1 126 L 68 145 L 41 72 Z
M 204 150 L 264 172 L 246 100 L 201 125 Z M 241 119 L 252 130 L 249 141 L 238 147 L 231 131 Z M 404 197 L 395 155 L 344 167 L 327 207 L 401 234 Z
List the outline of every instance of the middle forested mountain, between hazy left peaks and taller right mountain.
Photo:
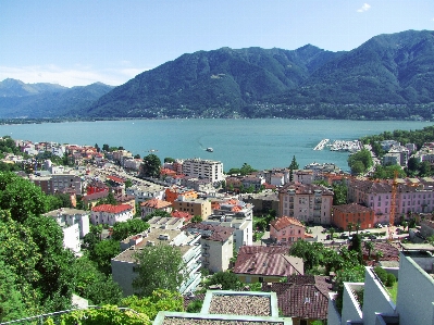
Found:
M 101 97 L 91 116 L 224 116 L 247 103 L 296 89 L 339 57 L 313 46 L 295 51 L 222 48 L 184 54 Z

